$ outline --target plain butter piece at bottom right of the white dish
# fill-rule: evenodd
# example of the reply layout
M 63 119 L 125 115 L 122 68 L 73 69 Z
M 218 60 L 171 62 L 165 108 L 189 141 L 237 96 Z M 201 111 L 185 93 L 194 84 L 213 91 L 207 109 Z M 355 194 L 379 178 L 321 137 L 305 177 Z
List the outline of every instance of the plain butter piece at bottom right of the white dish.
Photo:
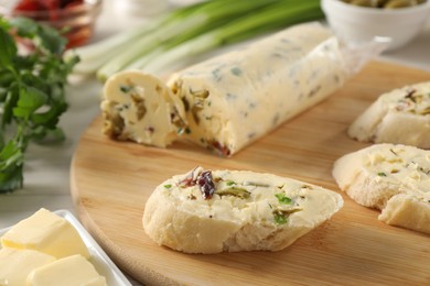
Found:
M 29 286 L 103 286 L 107 285 L 90 262 L 77 254 L 32 271 Z

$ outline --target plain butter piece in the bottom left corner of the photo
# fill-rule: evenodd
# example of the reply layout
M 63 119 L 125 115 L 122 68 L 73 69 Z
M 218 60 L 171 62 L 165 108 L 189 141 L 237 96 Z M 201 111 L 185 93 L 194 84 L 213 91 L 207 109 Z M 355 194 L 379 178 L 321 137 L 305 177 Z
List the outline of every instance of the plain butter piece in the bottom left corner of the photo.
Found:
M 33 270 L 55 261 L 54 256 L 33 250 L 0 250 L 0 286 L 25 286 Z

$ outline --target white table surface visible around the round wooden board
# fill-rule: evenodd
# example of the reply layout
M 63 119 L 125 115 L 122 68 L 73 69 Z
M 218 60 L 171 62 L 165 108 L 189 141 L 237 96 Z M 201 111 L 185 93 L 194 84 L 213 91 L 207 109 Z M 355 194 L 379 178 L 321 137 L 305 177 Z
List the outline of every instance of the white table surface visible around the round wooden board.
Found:
M 112 1 L 105 1 L 92 41 L 146 21 L 141 15 L 126 15 Z M 379 58 L 430 72 L 430 19 L 423 32 L 411 44 L 383 54 Z M 0 229 L 14 224 L 42 207 L 50 210 L 66 209 L 75 213 L 69 194 L 71 160 L 80 134 L 99 114 L 100 92 L 101 85 L 94 79 L 68 87 L 69 109 L 61 120 L 67 140 L 51 146 L 31 144 L 25 161 L 24 188 L 0 195 Z

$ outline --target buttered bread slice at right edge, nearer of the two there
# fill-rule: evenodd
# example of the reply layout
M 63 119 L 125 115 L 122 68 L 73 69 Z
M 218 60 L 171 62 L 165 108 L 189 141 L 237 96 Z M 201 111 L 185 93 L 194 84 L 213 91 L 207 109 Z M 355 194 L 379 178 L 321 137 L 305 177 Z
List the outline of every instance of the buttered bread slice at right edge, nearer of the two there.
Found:
M 430 233 L 430 151 L 376 144 L 338 158 L 333 176 L 356 202 L 388 224 Z

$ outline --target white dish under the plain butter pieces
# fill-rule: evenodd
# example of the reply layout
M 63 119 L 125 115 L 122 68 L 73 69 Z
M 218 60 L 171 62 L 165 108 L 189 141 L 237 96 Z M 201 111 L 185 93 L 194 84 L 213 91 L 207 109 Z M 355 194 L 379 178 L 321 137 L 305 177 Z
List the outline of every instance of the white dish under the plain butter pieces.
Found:
M 90 257 L 89 261 L 96 267 L 97 272 L 105 276 L 107 285 L 109 286 L 131 286 L 131 283 L 120 272 L 117 265 L 109 258 L 104 250 L 97 244 L 87 230 L 80 222 L 67 210 L 54 211 L 55 215 L 66 219 L 79 232 L 85 245 L 87 245 Z M 0 237 L 2 237 L 10 228 L 1 229 Z

